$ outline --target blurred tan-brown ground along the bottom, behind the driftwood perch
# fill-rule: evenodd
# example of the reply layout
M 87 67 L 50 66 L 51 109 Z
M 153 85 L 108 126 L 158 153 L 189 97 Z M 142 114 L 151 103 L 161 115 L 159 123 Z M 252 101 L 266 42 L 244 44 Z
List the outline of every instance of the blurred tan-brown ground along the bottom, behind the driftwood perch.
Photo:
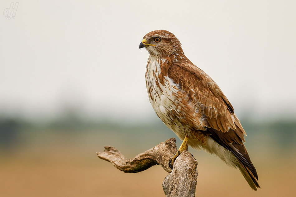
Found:
M 98 145 L 97 150 L 103 151 L 103 146 Z M 254 157 L 262 188 L 255 192 L 238 170 L 226 166 L 216 156 L 190 151 L 199 163 L 196 196 L 272 197 L 296 193 L 294 158 Z M 165 196 L 161 184 L 167 172 L 160 166 L 125 174 L 98 159 L 95 152 L 84 155 L 75 146 L 39 150 L 31 147 L 2 159 L 1 197 Z

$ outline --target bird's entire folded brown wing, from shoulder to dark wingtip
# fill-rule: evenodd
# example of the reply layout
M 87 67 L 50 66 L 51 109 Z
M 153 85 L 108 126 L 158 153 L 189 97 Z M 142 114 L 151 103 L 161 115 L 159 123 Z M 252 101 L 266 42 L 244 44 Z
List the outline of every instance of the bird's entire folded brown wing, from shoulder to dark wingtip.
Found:
M 172 64 L 168 69 L 168 76 L 188 94 L 191 100 L 203 105 L 208 123 L 207 129 L 203 132 L 231 151 L 241 165 L 248 169 L 246 172 L 251 171 L 248 173 L 259 187 L 255 180 L 258 180 L 257 172 L 243 144 L 246 133 L 219 86 L 187 58 Z

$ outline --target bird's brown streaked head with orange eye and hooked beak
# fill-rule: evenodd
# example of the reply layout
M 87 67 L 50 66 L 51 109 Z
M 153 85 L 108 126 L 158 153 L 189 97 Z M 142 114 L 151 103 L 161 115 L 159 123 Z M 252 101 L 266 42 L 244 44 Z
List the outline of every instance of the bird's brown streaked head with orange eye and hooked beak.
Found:
M 174 54 L 184 54 L 179 40 L 166 30 L 151 31 L 143 37 L 139 46 L 146 48 L 151 56 L 166 57 Z

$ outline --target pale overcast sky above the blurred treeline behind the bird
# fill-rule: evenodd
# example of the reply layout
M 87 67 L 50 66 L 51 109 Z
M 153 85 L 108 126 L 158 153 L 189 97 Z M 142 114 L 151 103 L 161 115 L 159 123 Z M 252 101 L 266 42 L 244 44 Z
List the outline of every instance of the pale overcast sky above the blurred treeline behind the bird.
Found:
M 143 36 L 165 29 L 238 117 L 296 117 L 296 1 L 0 2 L 0 115 L 157 118 Z

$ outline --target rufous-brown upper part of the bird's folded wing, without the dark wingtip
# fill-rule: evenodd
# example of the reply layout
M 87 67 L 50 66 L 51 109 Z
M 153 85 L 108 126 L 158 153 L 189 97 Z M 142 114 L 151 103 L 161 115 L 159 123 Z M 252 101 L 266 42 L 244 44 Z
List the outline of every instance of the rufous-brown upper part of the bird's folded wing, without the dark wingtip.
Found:
M 219 86 L 189 60 L 182 62 L 174 63 L 169 67 L 169 78 L 174 80 L 192 100 L 196 99 L 200 104 L 203 104 L 203 111 L 210 128 L 223 133 L 230 129 L 236 132 L 238 138 L 229 139 L 230 141 L 226 143 L 236 141 L 242 144 L 242 141 L 245 141 L 244 134 L 246 133 L 234 114 L 231 103 Z

